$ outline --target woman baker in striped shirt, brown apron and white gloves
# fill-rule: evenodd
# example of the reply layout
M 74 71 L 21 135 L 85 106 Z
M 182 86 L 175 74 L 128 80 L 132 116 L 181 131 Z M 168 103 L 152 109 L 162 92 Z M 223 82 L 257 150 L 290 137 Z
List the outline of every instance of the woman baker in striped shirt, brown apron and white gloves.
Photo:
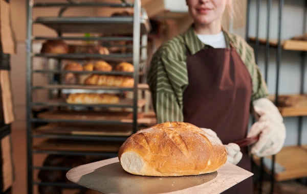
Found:
M 260 135 L 251 153 L 278 153 L 286 138 L 282 116 L 266 98 L 253 49 L 222 29 L 222 14 L 231 0 L 186 3 L 193 25 L 164 43 L 151 61 L 148 84 L 158 123 L 183 121 L 204 128 L 223 142 L 228 162 L 251 171 L 248 148 L 240 150 L 232 142 Z M 250 111 L 257 122 L 247 133 Z M 252 192 L 250 178 L 225 193 Z

